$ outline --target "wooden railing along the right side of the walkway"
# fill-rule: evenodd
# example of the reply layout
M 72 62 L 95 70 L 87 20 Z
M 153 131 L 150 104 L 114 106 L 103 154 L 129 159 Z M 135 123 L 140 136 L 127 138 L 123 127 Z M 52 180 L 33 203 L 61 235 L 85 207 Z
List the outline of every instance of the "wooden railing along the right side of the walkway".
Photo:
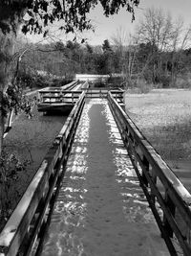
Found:
M 176 236 L 184 255 L 190 256 L 190 193 L 118 105 L 111 92 L 108 93 L 108 101 L 138 175 L 140 186 L 158 222 L 161 236 L 169 252 L 171 255 L 178 255 L 174 243 Z

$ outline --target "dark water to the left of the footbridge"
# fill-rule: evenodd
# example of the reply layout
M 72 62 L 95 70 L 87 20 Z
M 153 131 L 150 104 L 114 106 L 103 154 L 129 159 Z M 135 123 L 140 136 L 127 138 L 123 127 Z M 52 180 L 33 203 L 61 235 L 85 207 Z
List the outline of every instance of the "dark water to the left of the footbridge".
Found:
M 25 114 L 15 118 L 11 131 L 4 140 L 5 150 L 15 153 L 22 162 L 29 160 L 30 163 L 24 172 L 19 173 L 18 179 L 11 184 L 12 207 L 17 203 L 40 166 L 43 158 L 53 139 L 63 127 L 67 116 L 48 116 L 37 111 L 34 106 L 32 119 Z

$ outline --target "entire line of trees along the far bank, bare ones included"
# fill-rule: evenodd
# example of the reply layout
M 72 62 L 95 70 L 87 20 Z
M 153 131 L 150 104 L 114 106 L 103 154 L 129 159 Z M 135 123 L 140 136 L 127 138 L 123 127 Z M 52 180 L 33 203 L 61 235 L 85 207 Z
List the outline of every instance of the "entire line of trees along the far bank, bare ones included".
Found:
M 160 9 L 142 15 L 134 35 L 118 29 L 101 45 L 69 40 L 31 44 L 21 71 L 43 70 L 68 79 L 76 73 L 120 75 L 121 85 L 141 86 L 144 81 L 160 87 L 190 87 L 191 26 L 174 20 Z M 29 74 L 28 74 L 29 75 Z

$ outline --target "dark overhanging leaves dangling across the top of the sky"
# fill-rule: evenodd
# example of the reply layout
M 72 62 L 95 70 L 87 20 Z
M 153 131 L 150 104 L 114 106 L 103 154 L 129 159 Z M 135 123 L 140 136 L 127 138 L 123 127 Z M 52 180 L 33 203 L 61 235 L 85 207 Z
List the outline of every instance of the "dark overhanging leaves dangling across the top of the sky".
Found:
M 28 18 L 25 20 L 22 32 L 47 35 L 47 28 L 54 21 L 63 21 L 60 30 L 65 33 L 89 30 L 92 27 L 88 18 L 88 13 L 101 4 L 103 13 L 106 16 L 115 14 L 120 8 L 125 8 L 127 12 L 132 13 L 132 19 L 135 19 L 134 7 L 138 6 L 139 0 L 85 0 L 85 1 L 59 1 L 59 0 L 2 0 L 1 6 L 6 11 L 5 17 L 11 17 L 11 23 L 0 22 L 0 28 L 3 33 L 8 33 L 15 26 L 15 15 L 20 16 L 21 12 L 27 10 Z M 7 10 L 10 10 L 10 13 Z

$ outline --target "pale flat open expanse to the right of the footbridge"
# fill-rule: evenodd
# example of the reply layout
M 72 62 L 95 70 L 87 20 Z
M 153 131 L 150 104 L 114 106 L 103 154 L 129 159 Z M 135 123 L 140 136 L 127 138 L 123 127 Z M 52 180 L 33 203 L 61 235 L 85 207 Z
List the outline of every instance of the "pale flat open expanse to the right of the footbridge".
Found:
M 191 91 L 127 92 L 125 104 L 129 116 L 180 179 L 191 178 Z

